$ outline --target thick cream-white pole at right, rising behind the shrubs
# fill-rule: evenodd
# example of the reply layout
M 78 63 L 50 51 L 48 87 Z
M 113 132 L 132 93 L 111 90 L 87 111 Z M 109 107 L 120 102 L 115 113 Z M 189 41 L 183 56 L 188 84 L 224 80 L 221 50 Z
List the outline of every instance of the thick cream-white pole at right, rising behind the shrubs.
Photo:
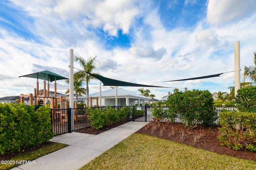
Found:
M 235 96 L 237 94 L 237 90 L 240 89 L 240 41 L 235 42 Z

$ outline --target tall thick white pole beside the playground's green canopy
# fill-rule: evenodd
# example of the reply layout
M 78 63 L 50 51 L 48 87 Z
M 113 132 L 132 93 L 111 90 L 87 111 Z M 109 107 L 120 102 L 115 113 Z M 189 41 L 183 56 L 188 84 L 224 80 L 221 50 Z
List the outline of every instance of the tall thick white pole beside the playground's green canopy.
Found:
M 69 49 L 69 107 L 74 108 L 74 50 Z M 71 115 L 71 129 L 74 130 L 74 112 Z

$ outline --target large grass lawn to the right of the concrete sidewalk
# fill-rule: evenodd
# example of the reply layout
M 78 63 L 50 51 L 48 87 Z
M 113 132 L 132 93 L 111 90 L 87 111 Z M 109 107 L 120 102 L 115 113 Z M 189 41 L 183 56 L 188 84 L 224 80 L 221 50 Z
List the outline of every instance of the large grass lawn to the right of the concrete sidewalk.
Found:
M 256 162 L 134 133 L 80 170 L 255 170 Z

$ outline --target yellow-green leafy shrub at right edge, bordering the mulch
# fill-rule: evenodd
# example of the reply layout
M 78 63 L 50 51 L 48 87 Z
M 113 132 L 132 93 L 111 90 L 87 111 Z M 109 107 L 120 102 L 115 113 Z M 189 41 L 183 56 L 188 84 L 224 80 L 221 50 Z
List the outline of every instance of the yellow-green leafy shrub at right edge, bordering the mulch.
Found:
M 256 113 L 223 111 L 219 139 L 222 145 L 240 150 L 256 151 Z

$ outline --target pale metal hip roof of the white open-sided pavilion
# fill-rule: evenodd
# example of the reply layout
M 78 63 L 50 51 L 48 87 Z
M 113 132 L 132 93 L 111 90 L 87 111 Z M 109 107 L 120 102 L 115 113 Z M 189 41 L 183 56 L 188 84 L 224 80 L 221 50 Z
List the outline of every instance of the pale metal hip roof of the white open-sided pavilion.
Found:
M 100 92 L 89 95 L 89 97 L 94 97 L 94 98 L 97 98 L 99 96 L 100 96 Z M 105 90 L 105 91 L 101 92 L 101 97 L 115 97 L 115 96 L 116 96 L 116 88 L 112 88 L 112 89 Z M 122 88 L 117 88 L 117 96 L 129 96 L 129 97 L 145 99 L 145 100 L 151 99 L 151 98 L 148 98 L 141 94 L 137 94 L 137 93 L 131 92 L 129 90 L 124 90 Z

